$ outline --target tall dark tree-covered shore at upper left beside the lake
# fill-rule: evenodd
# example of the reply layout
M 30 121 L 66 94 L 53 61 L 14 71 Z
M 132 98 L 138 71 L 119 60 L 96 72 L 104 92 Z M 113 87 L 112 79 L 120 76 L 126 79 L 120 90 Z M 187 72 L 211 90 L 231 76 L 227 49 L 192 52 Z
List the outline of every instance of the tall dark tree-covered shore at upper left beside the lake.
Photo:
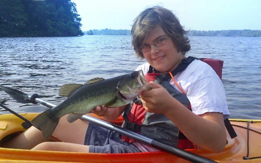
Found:
M 71 0 L 0 0 L 0 37 L 83 35 L 80 21 Z

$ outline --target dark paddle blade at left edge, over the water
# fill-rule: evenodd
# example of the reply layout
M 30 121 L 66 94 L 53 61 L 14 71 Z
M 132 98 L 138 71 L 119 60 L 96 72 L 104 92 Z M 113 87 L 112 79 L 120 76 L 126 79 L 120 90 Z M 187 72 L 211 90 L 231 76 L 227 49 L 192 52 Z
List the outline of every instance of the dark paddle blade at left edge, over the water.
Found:
M 3 85 L 0 85 L 0 87 L 16 101 L 21 102 L 21 103 L 31 103 L 31 101 L 28 97 L 28 94 L 26 94 L 22 91 L 13 89 L 11 87 L 7 87 L 7 86 L 3 86 Z

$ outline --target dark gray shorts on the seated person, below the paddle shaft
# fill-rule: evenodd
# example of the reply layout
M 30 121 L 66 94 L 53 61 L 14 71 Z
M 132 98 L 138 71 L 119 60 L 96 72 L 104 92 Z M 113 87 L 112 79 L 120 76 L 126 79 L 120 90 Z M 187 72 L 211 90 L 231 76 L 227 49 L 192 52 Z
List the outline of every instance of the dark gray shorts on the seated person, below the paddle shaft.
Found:
M 132 143 L 122 141 L 119 133 L 89 123 L 86 131 L 85 145 L 94 153 L 132 153 L 142 152 Z

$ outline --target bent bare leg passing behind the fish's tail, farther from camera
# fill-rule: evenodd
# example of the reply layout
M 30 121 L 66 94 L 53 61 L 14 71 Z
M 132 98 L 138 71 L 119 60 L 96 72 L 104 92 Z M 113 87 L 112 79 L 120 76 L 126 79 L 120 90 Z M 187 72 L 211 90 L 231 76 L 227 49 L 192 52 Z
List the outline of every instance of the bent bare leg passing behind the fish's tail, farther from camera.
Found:
M 61 117 L 53 134 L 64 142 L 84 144 L 87 127 L 88 122 L 80 119 L 77 119 L 72 123 L 67 122 L 65 115 Z M 41 142 L 50 140 L 51 139 L 46 140 L 43 137 L 42 132 L 32 126 L 12 140 L 1 144 L 1 147 L 31 149 Z

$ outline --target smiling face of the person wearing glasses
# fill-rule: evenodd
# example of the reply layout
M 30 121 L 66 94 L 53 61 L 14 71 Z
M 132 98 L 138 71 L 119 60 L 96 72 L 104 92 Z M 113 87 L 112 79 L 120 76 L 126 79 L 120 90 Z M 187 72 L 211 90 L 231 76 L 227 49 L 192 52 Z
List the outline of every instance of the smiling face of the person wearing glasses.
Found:
M 166 37 L 167 34 L 161 25 L 155 26 L 145 38 L 143 45 L 150 45 L 151 50 L 143 52 L 146 60 L 157 70 L 168 73 L 174 70 L 181 60 L 185 58 L 181 51 L 178 51 L 171 38 L 166 39 L 166 43 L 160 47 L 153 45 L 159 38 Z

